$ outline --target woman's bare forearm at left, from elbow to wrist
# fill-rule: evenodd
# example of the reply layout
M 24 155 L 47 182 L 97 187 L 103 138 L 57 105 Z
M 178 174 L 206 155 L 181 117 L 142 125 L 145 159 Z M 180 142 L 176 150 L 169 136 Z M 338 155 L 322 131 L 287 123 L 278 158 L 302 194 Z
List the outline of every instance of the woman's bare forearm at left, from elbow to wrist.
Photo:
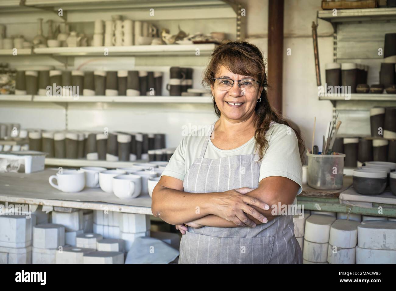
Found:
M 182 224 L 211 214 L 213 193 L 188 193 L 159 186 L 152 194 L 152 213 L 169 224 Z

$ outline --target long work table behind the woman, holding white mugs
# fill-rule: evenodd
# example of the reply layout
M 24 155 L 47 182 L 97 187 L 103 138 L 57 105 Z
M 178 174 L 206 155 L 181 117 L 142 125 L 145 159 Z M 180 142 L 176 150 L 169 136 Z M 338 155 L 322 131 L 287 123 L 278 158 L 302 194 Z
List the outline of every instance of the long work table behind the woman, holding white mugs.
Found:
M 88 188 L 77 193 L 64 193 L 53 188 L 49 176 L 55 175 L 55 169 L 45 169 L 38 173 L 0 173 L 0 201 L 17 204 L 38 204 L 80 209 L 108 210 L 125 213 L 152 214 L 151 198 L 141 195 L 134 199 L 119 199 L 114 194 L 103 192 L 100 188 Z M 305 210 L 334 211 L 396 217 L 396 205 L 373 203 L 372 207 L 341 204 L 340 194 L 352 186 L 352 177 L 345 176 L 343 187 L 339 190 L 317 190 L 307 184 L 297 196 L 297 203 Z M 396 201 L 396 197 L 395 197 Z M 378 214 L 378 207 L 383 213 Z

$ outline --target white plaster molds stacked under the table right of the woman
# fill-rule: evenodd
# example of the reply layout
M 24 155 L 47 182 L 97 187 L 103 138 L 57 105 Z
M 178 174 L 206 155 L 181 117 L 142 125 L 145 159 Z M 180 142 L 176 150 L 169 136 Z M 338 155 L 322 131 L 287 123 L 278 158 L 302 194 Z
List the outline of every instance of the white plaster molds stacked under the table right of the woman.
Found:
M 293 222 L 304 264 L 396 263 L 394 217 L 305 211 Z

